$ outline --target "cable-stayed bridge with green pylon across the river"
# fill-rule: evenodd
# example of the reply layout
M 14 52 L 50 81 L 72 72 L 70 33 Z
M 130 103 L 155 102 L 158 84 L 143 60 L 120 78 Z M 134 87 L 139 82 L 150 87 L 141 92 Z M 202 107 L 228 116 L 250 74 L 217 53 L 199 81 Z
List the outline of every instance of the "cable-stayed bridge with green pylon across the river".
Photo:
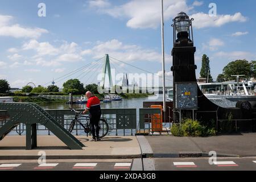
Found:
M 122 86 L 122 89 L 127 90 L 139 89 L 146 90 L 146 92 L 163 92 L 162 86 L 159 85 L 161 82 L 159 81 L 159 78 L 162 78 L 162 76 L 158 76 L 156 73 L 136 67 L 135 65 L 126 63 L 125 61 L 115 59 L 108 54 L 100 57 L 98 60 L 82 65 L 80 68 L 69 73 L 65 73 L 63 76 L 55 78 L 54 81 L 49 81 L 43 86 L 47 86 L 53 82 L 55 84 L 61 84 L 62 82 L 75 78 L 84 83 L 84 85 L 97 83 L 104 89 L 113 88 L 113 86 L 119 85 Z M 170 77 L 166 77 L 166 82 L 172 83 L 172 79 Z M 172 86 L 166 86 L 166 89 L 171 88 Z

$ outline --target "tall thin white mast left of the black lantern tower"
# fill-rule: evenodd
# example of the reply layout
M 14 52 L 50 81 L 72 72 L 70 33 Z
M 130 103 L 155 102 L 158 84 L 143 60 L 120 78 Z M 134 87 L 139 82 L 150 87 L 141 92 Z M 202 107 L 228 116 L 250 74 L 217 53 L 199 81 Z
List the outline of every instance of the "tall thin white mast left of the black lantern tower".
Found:
M 162 27 L 162 71 L 163 71 L 163 111 L 166 111 L 166 70 L 164 68 L 164 18 L 163 0 L 161 0 L 161 27 Z

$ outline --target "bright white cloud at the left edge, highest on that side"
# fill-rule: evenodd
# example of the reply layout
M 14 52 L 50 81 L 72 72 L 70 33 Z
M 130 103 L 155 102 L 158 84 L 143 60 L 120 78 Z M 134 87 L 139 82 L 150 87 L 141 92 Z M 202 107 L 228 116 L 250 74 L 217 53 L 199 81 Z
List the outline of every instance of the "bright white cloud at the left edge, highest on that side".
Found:
M 0 36 L 11 36 L 14 38 L 39 38 L 48 33 L 43 28 L 22 27 L 19 24 L 11 24 L 13 16 L 0 15 Z

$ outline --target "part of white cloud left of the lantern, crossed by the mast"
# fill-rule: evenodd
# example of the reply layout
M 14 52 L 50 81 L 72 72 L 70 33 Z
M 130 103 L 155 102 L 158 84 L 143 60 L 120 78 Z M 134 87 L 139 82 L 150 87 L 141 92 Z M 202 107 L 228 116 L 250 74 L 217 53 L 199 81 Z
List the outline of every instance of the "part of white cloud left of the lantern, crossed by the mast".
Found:
M 126 23 L 130 28 L 157 28 L 160 25 L 160 1 L 156 0 L 132 0 L 121 6 L 101 9 L 102 13 L 114 18 L 128 18 Z M 164 1 L 164 18 L 172 19 L 180 11 L 188 12 L 189 7 L 185 0 Z

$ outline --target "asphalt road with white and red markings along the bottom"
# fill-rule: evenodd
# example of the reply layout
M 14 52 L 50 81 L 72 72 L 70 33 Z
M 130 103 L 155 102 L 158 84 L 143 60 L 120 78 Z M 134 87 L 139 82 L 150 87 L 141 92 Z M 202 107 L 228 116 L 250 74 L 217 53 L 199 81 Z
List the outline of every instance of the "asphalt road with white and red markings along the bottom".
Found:
M 151 158 L 156 171 L 256 171 L 256 157 L 246 158 Z M 0 160 L 0 171 L 131 171 L 133 159 Z M 145 168 L 145 167 L 144 167 Z

